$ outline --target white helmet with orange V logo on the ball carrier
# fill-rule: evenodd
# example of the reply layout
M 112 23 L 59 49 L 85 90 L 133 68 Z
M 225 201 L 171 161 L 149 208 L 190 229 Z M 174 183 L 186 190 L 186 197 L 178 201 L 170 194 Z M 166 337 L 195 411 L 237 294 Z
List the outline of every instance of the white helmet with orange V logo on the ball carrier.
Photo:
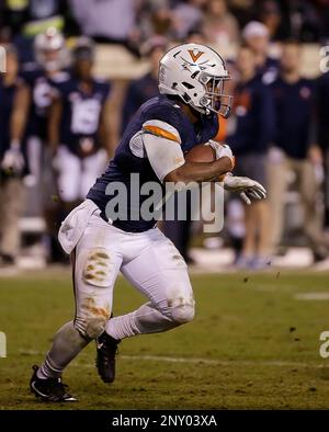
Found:
M 178 95 L 202 114 L 229 115 L 232 96 L 224 93 L 229 79 L 223 58 L 205 45 L 175 46 L 160 60 L 160 93 Z

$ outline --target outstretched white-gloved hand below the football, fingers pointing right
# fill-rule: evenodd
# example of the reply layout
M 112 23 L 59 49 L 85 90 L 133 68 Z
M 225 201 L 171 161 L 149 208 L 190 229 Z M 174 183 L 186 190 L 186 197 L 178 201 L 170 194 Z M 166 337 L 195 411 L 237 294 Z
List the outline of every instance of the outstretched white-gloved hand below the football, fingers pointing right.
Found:
M 236 177 L 228 173 L 224 178 L 224 189 L 229 192 L 239 192 L 247 205 L 251 204 L 251 198 L 263 200 L 266 197 L 266 190 L 248 177 Z

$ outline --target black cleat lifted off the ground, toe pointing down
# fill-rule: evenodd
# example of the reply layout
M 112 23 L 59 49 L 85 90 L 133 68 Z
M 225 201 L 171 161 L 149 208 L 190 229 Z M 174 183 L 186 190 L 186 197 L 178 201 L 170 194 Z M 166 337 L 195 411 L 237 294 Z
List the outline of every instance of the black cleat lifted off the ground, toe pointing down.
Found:
M 115 355 L 120 342 L 105 331 L 97 339 L 97 368 L 104 383 L 115 379 Z

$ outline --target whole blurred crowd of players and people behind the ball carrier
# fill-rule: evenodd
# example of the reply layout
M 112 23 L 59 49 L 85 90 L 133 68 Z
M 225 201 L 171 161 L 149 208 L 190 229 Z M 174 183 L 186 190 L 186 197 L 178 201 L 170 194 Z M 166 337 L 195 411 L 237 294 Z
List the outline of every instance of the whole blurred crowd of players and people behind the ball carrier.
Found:
M 129 118 L 158 94 L 161 56 L 184 42 L 219 54 L 236 47 L 226 58 L 232 112 L 216 139 L 231 146 L 236 175 L 269 192 L 251 206 L 226 196 L 226 226 L 212 245 L 232 248 L 231 264 L 242 269 L 265 269 L 292 245 L 309 248 L 314 263 L 328 258 L 329 73 L 317 66 L 305 78 L 300 65 L 305 44 L 329 45 L 329 0 L 0 0 L 2 266 L 35 241 L 47 262 L 66 261 L 60 221 L 102 173 Z M 117 77 L 120 86 L 97 78 L 95 52 L 116 45 L 148 71 Z M 42 227 L 22 224 L 29 216 Z M 163 224 L 189 263 L 201 226 Z

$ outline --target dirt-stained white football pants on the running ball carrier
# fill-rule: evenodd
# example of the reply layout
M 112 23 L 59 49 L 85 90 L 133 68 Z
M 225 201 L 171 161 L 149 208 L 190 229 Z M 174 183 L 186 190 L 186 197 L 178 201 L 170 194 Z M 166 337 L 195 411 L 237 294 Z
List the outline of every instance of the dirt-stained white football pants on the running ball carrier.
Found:
M 193 319 L 186 264 L 158 228 L 125 232 L 93 214 L 73 257 L 75 328 L 81 336 L 94 339 L 105 329 L 113 338 L 123 339 L 166 331 Z M 109 320 L 120 271 L 148 303 Z

